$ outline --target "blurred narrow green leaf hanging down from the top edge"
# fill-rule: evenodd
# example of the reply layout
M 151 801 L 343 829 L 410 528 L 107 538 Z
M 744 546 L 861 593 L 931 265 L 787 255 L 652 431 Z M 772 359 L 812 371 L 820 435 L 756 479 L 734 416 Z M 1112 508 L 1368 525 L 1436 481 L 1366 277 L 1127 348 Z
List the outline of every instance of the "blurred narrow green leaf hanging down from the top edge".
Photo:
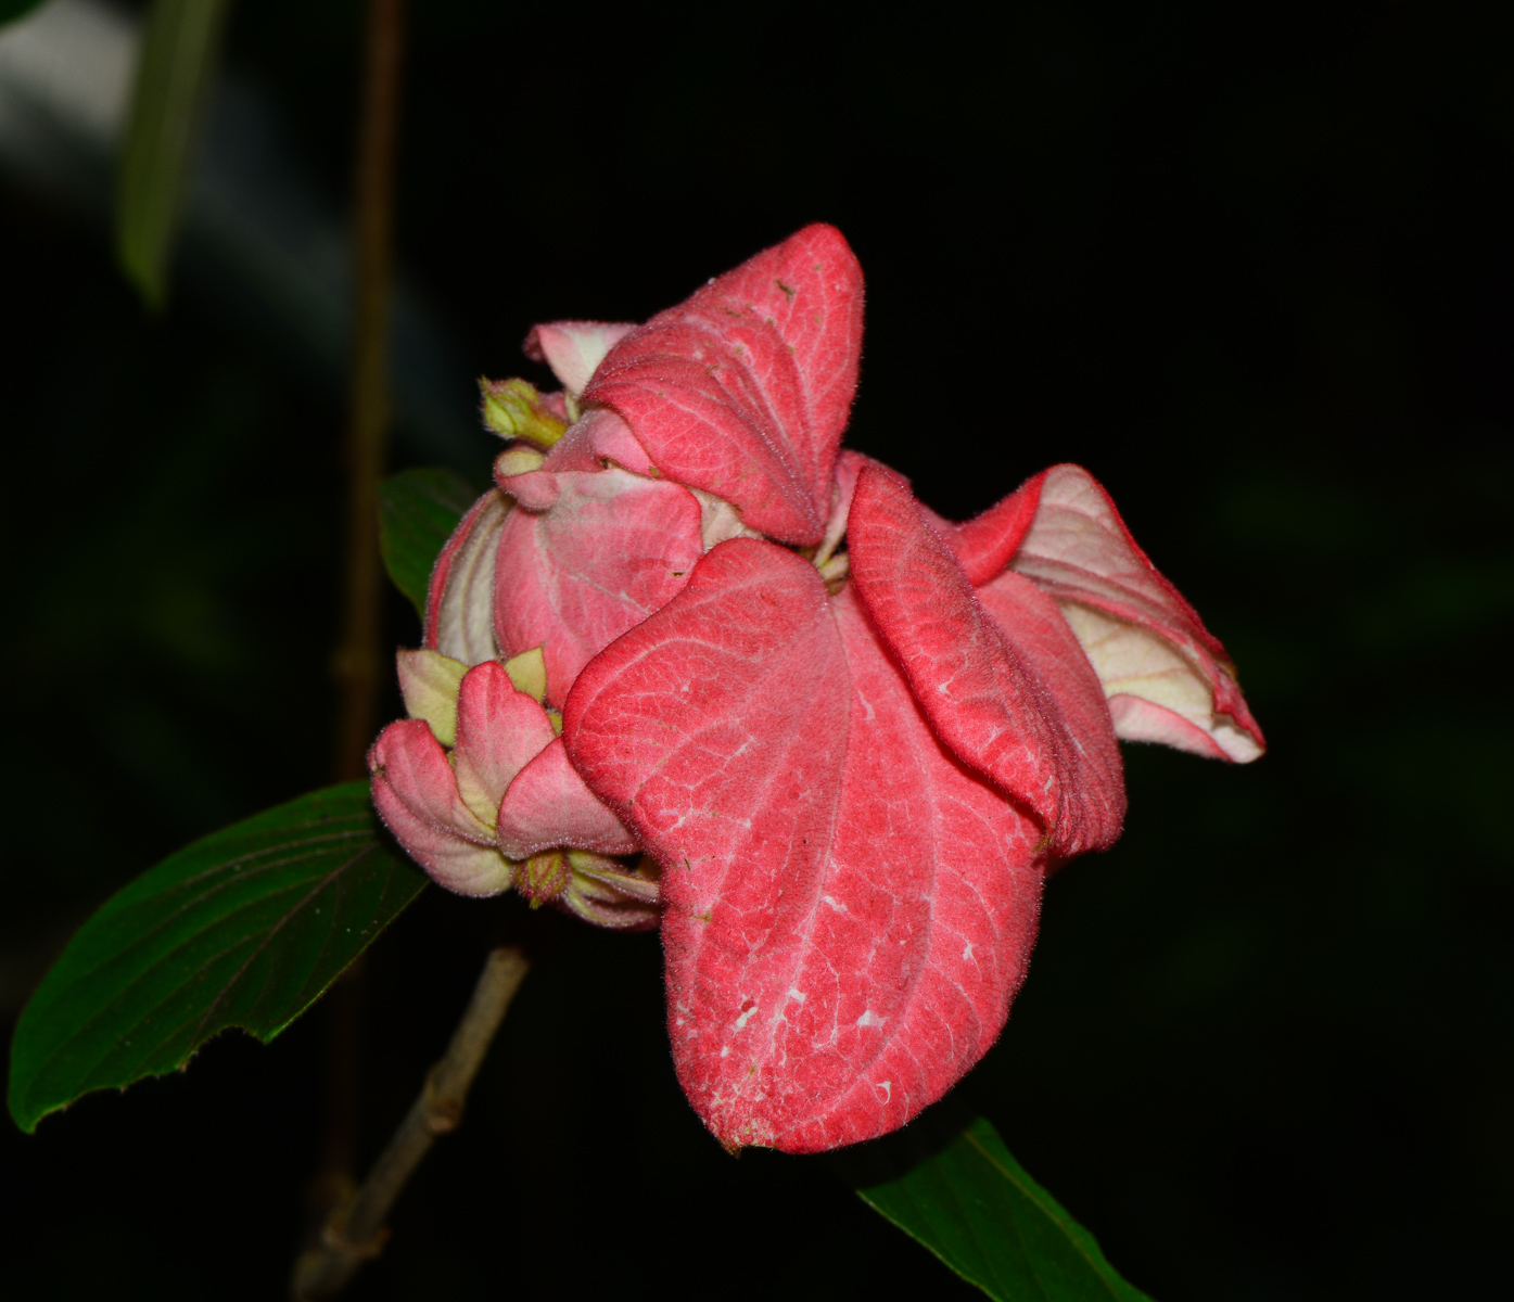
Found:
M 168 257 L 189 160 L 226 29 L 227 0 L 153 0 L 115 200 L 115 251 L 150 307 L 168 297 Z

